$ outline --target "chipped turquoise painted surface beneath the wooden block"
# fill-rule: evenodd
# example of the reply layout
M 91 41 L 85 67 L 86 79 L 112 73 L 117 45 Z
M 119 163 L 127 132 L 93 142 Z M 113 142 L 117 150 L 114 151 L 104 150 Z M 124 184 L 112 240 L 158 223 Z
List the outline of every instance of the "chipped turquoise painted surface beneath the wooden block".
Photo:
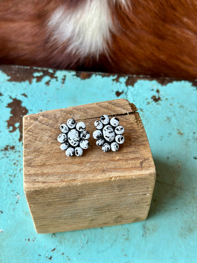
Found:
M 118 82 L 115 78 L 92 75 L 84 80 L 66 71 L 54 72 L 51 78 L 35 70 L 31 81 L 19 83 L 0 72 L 0 262 L 196 262 L 197 88 L 188 81 L 162 86 L 143 79 L 127 86 L 127 76 Z M 24 109 L 38 113 L 117 99 L 117 91 L 123 92 L 119 98 L 137 106 L 156 164 L 148 219 L 37 234 L 23 191 L 23 145 L 17 118 Z

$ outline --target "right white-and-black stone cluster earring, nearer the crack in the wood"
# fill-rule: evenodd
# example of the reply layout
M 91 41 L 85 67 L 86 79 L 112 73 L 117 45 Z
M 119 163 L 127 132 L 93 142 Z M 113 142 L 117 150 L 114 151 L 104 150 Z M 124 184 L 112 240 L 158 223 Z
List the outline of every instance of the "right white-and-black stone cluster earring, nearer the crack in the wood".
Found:
M 102 115 L 100 120 L 95 121 L 95 127 L 97 130 L 94 131 L 93 138 L 97 140 L 97 146 L 101 146 L 104 152 L 119 150 L 119 144 L 125 141 L 125 129 L 119 125 L 117 117 L 109 119 L 107 115 Z

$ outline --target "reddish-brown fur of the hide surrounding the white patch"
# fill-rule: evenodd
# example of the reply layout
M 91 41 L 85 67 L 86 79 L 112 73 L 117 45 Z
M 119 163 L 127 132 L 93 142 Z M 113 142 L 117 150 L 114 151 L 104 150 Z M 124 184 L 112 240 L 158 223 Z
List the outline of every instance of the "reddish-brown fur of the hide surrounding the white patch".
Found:
M 54 10 L 79 2 L 1 0 L 0 63 L 197 78 L 196 0 L 131 0 L 127 11 L 111 5 L 116 32 L 109 56 L 100 54 L 99 61 L 51 43 L 46 23 Z

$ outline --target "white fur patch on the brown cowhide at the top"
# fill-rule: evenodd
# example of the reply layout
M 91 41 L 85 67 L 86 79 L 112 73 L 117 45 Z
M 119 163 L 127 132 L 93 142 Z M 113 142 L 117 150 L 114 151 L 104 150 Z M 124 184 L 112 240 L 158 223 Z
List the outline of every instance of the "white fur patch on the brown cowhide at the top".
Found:
M 118 0 L 125 2 L 125 0 Z M 53 40 L 68 43 L 68 52 L 80 57 L 107 53 L 113 24 L 107 0 L 87 0 L 79 7 L 59 7 L 49 21 Z

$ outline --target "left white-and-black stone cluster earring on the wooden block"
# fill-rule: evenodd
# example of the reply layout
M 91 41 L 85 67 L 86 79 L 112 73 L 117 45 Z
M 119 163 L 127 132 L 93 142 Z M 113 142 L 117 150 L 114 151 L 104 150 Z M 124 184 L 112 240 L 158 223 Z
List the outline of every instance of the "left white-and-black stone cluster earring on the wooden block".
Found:
M 68 119 L 66 124 L 60 125 L 62 133 L 58 136 L 58 142 L 61 143 L 60 149 L 66 150 L 67 156 L 81 156 L 83 150 L 88 149 L 90 133 L 85 129 L 84 122 L 76 123 L 72 118 Z

